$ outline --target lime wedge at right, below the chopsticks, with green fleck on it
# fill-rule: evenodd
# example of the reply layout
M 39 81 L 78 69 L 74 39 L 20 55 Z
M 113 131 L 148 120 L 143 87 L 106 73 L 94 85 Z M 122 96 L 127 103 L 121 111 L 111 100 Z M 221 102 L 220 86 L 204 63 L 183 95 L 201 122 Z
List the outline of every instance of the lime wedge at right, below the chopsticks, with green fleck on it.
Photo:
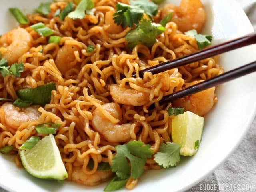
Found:
M 190 111 L 172 119 L 172 141 L 181 144 L 180 155 L 192 156 L 198 151 L 204 118 Z

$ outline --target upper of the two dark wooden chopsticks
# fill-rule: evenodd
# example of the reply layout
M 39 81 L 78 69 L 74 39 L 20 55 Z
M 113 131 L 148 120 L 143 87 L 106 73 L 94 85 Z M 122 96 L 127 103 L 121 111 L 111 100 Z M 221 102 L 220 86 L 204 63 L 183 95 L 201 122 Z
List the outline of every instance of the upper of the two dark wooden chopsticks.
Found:
M 139 71 L 139 76 L 143 78 L 144 73 L 151 72 L 152 74 L 158 74 L 176 67 L 184 66 L 186 64 L 190 64 L 199 60 L 203 60 L 218 54 L 222 54 L 224 52 L 228 52 L 234 49 L 238 49 L 244 46 L 248 46 L 256 43 L 256 33 L 248 34 L 241 38 L 237 38 L 235 40 L 231 40 L 189 55 L 186 55 L 181 58 L 177 58 L 171 61 L 167 61 L 161 63 L 159 65 L 155 65 L 144 70 Z M 133 77 L 136 77 L 136 74 L 132 74 Z

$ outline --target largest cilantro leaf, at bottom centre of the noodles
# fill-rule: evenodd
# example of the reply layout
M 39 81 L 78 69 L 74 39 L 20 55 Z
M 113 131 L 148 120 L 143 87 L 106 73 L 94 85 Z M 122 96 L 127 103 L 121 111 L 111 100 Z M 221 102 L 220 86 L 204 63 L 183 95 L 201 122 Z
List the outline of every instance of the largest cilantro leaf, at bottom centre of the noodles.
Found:
M 111 169 L 122 180 L 127 179 L 130 175 L 133 179 L 138 178 L 144 172 L 146 158 L 150 158 L 153 154 L 150 145 L 144 145 L 140 141 L 130 141 L 127 144 L 118 145 L 116 151 Z

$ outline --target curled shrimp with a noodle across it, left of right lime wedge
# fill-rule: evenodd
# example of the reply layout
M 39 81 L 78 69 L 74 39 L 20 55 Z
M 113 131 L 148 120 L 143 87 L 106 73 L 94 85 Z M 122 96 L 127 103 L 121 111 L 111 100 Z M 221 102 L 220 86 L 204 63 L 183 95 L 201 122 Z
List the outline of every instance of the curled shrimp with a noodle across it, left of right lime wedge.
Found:
M 114 118 L 121 120 L 122 111 L 119 104 L 107 103 L 102 105 L 102 108 Z M 92 126 L 96 131 L 100 132 L 108 142 L 126 142 L 131 138 L 130 127 L 132 123 L 114 124 L 106 118 L 98 108 L 93 112 Z

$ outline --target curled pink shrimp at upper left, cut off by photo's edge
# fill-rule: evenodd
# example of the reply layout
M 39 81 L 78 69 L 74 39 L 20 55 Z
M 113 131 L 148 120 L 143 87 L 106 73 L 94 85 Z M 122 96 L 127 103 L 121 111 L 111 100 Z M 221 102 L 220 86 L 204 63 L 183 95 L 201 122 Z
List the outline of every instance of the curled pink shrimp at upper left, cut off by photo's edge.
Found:
M 4 47 L 2 57 L 8 60 L 9 65 L 18 62 L 18 59 L 32 47 L 32 36 L 23 28 L 17 28 L 4 34 L 0 38 L 0 47 Z

